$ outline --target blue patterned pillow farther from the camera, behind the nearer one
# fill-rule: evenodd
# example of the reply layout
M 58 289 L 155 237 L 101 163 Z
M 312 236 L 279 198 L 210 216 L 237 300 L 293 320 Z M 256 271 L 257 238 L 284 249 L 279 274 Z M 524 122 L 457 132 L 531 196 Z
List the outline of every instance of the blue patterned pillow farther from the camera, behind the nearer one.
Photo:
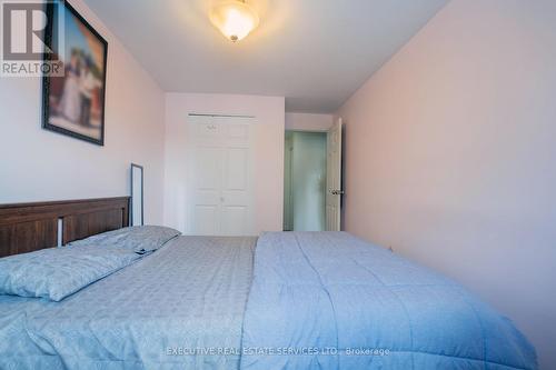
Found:
M 156 251 L 181 232 L 157 226 L 142 226 L 118 229 L 97 236 L 71 242 L 69 246 L 83 247 L 111 247 L 118 249 L 132 250 L 145 254 Z

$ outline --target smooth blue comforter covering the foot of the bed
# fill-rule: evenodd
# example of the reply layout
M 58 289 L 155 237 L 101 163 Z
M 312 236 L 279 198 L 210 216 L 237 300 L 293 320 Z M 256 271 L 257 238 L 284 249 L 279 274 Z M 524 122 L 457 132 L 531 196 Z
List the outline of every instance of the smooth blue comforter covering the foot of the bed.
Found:
M 512 322 L 454 281 L 347 233 L 257 243 L 241 369 L 536 369 Z

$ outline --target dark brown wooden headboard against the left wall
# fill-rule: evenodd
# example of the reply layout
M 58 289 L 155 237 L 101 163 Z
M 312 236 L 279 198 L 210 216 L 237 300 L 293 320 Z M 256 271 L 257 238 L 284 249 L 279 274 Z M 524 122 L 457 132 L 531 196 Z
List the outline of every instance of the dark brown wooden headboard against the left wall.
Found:
M 128 226 L 129 197 L 0 204 L 0 257 L 64 246 Z

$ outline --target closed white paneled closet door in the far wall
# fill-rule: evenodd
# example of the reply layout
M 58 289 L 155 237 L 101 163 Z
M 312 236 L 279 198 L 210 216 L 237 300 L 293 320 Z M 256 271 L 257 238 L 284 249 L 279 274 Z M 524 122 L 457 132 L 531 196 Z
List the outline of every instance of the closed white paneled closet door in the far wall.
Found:
M 250 236 L 254 228 L 252 118 L 189 117 L 190 234 Z

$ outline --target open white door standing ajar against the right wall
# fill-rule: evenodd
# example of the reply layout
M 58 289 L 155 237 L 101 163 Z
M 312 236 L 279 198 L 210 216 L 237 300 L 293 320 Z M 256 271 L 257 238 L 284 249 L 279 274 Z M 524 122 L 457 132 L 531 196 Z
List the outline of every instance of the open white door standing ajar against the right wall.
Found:
M 340 231 L 341 224 L 341 118 L 328 131 L 326 161 L 326 231 Z

